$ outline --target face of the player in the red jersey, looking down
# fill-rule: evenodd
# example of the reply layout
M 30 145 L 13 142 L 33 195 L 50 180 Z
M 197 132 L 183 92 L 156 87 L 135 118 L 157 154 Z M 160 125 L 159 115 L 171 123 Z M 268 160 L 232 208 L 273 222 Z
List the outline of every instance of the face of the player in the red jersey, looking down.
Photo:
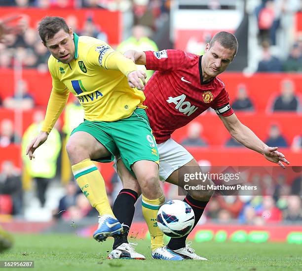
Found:
M 203 72 L 210 77 L 215 77 L 224 72 L 227 66 L 234 58 L 234 50 L 223 47 L 218 41 L 215 41 L 212 47 L 208 43 L 205 48 Z

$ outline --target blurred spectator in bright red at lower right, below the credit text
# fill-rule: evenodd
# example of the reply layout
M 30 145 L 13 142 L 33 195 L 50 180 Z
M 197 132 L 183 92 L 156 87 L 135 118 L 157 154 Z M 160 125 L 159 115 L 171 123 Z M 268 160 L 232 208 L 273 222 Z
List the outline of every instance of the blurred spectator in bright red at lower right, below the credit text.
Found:
M 261 216 L 265 222 L 275 223 L 282 220 L 282 212 L 275 206 L 275 201 L 271 196 L 263 198 Z

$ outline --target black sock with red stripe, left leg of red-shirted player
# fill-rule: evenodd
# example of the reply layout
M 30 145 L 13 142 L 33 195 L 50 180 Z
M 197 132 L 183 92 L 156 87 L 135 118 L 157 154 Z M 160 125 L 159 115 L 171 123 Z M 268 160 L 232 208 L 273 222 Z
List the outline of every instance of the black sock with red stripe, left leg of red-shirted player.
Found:
M 128 243 L 128 233 L 134 216 L 134 204 L 137 201 L 137 193 L 131 189 L 122 189 L 113 204 L 113 214 L 123 225 L 123 232 L 119 237 L 114 238 L 113 249 L 122 243 Z

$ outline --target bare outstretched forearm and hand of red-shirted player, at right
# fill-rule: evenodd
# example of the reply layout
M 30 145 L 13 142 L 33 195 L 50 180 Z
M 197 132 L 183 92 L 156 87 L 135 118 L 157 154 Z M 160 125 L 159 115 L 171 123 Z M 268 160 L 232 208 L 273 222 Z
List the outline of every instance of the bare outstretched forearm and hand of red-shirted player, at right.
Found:
M 277 151 L 278 147 L 267 146 L 251 129 L 243 125 L 235 114 L 228 117 L 219 115 L 219 117 L 230 135 L 245 147 L 263 154 L 268 161 L 278 164 L 283 169 L 285 169 L 283 163 L 290 164 L 284 154 Z

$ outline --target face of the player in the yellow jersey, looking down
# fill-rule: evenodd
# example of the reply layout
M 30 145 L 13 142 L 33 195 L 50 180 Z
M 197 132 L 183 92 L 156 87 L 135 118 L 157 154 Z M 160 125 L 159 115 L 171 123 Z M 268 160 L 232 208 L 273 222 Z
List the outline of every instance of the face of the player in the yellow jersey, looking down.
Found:
M 52 38 L 47 39 L 44 45 L 54 58 L 65 64 L 70 63 L 75 57 L 74 35 L 71 29 L 69 33 L 61 29 Z

